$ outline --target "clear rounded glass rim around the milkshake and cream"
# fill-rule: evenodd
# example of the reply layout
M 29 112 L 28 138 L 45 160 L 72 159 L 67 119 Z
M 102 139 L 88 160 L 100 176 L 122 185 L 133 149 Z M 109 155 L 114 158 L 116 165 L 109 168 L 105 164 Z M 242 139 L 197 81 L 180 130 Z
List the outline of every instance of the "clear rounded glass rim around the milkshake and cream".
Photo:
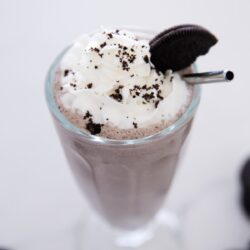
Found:
M 133 30 L 135 31 L 135 30 Z M 138 29 L 140 32 L 140 30 Z M 145 29 L 142 30 L 143 33 L 152 33 L 152 31 L 146 32 Z M 186 109 L 186 111 L 182 114 L 182 116 L 176 120 L 173 124 L 170 126 L 164 128 L 163 130 L 138 139 L 109 139 L 105 137 L 95 136 L 91 135 L 88 132 L 84 132 L 80 128 L 76 127 L 74 124 L 72 124 L 58 109 L 58 105 L 54 98 L 53 93 L 53 83 L 54 83 L 54 77 L 56 70 L 58 69 L 59 63 L 64 56 L 64 54 L 67 52 L 67 50 L 70 48 L 70 46 L 66 47 L 52 62 L 51 66 L 49 67 L 46 80 L 45 80 L 45 95 L 46 95 L 46 101 L 48 108 L 52 115 L 59 121 L 59 123 L 68 131 L 82 137 L 85 140 L 88 140 L 89 142 L 97 143 L 97 144 L 110 144 L 110 145 L 134 145 L 134 144 L 142 144 L 150 141 L 154 141 L 157 139 L 161 139 L 164 136 L 167 136 L 169 134 L 174 133 L 176 130 L 181 128 L 184 124 L 186 124 L 195 113 L 198 104 L 200 102 L 201 97 L 201 87 L 199 85 L 195 85 L 193 87 L 193 96 L 192 100 Z M 194 66 L 195 68 L 195 66 Z

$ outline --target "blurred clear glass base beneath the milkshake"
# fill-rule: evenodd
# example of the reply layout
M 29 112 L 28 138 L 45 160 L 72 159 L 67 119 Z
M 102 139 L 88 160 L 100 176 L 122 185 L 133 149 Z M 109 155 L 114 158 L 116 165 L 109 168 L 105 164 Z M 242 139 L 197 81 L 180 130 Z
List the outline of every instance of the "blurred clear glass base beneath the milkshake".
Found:
M 161 210 L 149 225 L 135 231 L 111 228 L 93 214 L 83 227 L 80 241 L 82 250 L 182 249 L 178 218 L 165 210 Z

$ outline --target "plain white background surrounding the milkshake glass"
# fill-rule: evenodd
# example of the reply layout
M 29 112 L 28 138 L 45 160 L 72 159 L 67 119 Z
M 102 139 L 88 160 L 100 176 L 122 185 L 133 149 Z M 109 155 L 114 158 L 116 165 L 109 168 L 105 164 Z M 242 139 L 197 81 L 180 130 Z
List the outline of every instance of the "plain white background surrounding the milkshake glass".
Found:
M 160 31 L 197 23 L 219 38 L 198 59 L 199 70 L 228 68 L 236 78 L 203 88 L 169 204 L 194 199 L 183 226 L 187 249 L 246 246 L 250 221 L 240 210 L 238 175 L 250 156 L 249 11 L 249 0 L 0 0 L 0 245 L 18 249 L 32 241 L 38 249 L 84 211 L 44 99 L 54 57 L 100 25 Z

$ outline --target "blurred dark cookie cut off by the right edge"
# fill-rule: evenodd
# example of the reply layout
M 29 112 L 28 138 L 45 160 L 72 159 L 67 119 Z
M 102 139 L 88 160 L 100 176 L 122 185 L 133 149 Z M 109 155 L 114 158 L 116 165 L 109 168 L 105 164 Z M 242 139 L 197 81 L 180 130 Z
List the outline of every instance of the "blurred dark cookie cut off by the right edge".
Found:
M 250 158 L 246 161 L 241 172 L 242 206 L 250 217 Z

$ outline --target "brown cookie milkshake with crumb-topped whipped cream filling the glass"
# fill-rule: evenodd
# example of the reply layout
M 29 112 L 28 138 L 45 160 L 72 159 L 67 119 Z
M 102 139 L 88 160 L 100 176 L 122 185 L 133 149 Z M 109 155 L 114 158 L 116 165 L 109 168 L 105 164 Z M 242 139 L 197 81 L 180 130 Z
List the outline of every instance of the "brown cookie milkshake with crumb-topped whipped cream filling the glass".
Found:
M 47 98 L 74 176 L 122 229 L 162 206 L 199 101 L 197 88 L 150 58 L 148 40 L 102 30 L 76 40 L 50 72 Z

